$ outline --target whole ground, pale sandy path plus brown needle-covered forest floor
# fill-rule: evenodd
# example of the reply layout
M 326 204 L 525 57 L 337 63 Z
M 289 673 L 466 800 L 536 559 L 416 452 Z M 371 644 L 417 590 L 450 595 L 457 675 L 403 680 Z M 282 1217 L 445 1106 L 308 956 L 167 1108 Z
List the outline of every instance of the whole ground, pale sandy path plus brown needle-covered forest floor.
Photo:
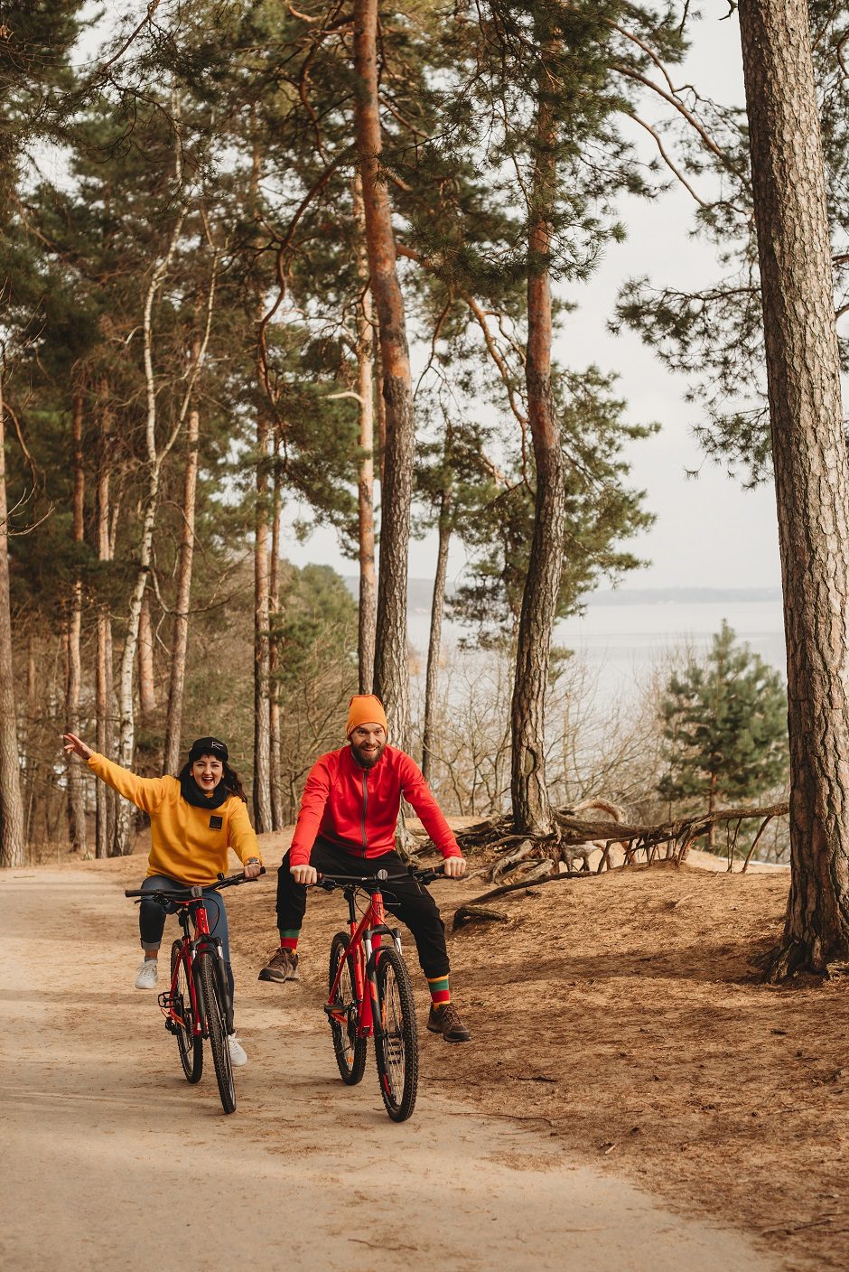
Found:
M 276 865 L 286 837 L 268 836 Z M 239 1109 L 180 1077 L 153 996 L 132 990 L 144 859 L 0 879 L 15 1272 L 760 1272 L 849 1263 L 849 985 L 760 985 L 787 873 L 615 870 L 498 898 L 451 937 L 473 1042 L 421 1029 L 419 1102 L 383 1112 L 370 1063 L 342 1086 L 320 1011 L 343 902 L 315 894 L 304 981 L 257 982 L 273 870 L 228 894 Z M 445 916 L 486 890 L 438 883 Z M 412 955 L 412 944 L 407 944 Z M 423 1027 L 426 993 L 418 990 Z M 201 1165 L 202 1164 L 202 1165 Z M 198 1187 L 200 1183 L 200 1187 Z M 211 1249 L 210 1244 L 214 1245 Z

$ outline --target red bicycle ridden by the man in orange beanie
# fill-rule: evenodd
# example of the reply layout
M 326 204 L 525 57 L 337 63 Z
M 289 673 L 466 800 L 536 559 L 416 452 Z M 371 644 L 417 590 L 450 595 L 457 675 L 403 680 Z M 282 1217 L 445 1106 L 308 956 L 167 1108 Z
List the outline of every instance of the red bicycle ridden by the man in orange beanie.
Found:
M 411 870 L 421 883 L 431 883 L 441 870 Z M 380 1094 L 393 1122 L 404 1122 L 416 1107 L 418 1089 L 418 1029 L 413 986 L 400 949 L 400 930 L 386 926 L 383 893 L 394 878 L 376 875 L 322 875 L 327 892 L 342 888 L 348 902 L 348 932 L 337 932 L 330 944 L 329 993 L 324 1005 L 333 1034 L 333 1051 L 342 1081 L 355 1086 L 366 1067 L 366 1039 L 375 1040 Z M 357 893 L 369 897 L 357 916 Z M 389 944 L 384 945 L 383 939 Z

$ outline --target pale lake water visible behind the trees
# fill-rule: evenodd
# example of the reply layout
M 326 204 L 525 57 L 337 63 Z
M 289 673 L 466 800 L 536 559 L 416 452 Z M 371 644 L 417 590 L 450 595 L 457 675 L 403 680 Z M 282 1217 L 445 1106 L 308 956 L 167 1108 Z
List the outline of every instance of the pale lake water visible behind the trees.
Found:
M 740 641 L 785 674 L 784 618 L 780 600 L 657 602 L 652 604 L 590 604 L 581 618 L 558 623 L 555 641 L 574 650 L 594 674 L 602 697 L 627 695 L 644 683 L 670 655 L 689 649 L 703 654 L 727 621 Z M 411 611 L 409 639 L 427 654 L 430 616 Z M 456 649 L 465 628 L 444 626 L 446 650 Z M 486 655 L 474 654 L 474 658 Z M 422 665 L 423 675 L 423 665 Z

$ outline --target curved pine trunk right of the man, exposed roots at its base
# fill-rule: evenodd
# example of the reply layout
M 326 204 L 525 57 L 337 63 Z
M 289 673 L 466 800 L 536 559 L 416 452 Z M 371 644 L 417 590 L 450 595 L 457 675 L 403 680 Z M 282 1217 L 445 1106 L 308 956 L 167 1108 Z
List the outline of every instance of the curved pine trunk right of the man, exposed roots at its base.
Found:
M 552 808 L 545 785 L 545 692 L 552 631 L 563 567 L 566 488 L 560 431 L 552 398 L 552 191 L 554 123 L 540 95 L 538 159 L 529 209 L 527 417 L 534 443 L 536 496 L 534 536 L 522 593 L 511 710 L 511 799 L 520 834 L 549 834 Z

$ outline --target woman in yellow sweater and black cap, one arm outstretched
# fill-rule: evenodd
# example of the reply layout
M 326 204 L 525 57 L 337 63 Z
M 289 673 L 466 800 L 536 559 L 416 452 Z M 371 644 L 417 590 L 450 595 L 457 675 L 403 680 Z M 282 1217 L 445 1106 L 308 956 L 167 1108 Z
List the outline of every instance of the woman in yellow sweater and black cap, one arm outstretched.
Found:
M 228 764 L 228 748 L 217 738 L 192 743 L 188 763 L 178 777 L 136 777 L 105 756 L 98 756 L 72 733 L 65 734 L 67 754 L 80 756 L 97 777 L 150 817 L 150 856 L 142 892 L 187 884 L 211 884 L 226 874 L 228 850 L 241 859 L 248 879 L 262 866 L 257 836 L 248 817 L 248 801 L 238 775 Z M 220 893 L 206 890 L 210 930 L 221 939 L 233 993 L 228 915 Z M 153 990 L 159 977 L 158 957 L 166 911 L 142 897 L 139 931 L 145 960 L 136 976 L 137 990 Z M 248 1057 L 235 1033 L 228 1038 L 230 1060 L 245 1065 Z

